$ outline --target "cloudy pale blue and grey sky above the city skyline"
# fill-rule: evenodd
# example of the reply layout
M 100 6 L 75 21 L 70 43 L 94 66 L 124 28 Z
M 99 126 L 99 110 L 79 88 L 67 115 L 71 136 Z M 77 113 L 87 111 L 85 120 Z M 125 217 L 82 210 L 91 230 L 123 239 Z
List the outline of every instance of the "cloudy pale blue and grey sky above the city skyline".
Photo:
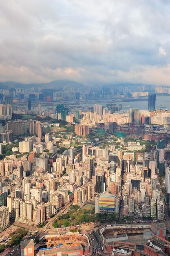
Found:
M 169 0 L 0 0 L 0 81 L 170 85 Z

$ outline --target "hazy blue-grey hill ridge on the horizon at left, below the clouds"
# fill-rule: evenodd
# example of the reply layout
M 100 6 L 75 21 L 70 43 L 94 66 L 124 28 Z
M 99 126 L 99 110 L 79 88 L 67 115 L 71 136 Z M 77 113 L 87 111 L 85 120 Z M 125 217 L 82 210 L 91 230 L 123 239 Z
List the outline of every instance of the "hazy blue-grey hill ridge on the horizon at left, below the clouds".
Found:
M 7 89 L 8 85 L 15 85 L 19 88 L 31 88 L 31 87 L 42 87 L 44 88 L 51 88 L 51 89 L 60 89 L 63 86 L 74 86 L 74 87 L 83 87 L 84 85 L 82 83 L 77 83 L 75 81 L 70 80 L 55 80 L 51 81 L 49 83 L 18 83 L 15 81 L 6 81 L 6 82 L 0 82 L 0 89 Z

